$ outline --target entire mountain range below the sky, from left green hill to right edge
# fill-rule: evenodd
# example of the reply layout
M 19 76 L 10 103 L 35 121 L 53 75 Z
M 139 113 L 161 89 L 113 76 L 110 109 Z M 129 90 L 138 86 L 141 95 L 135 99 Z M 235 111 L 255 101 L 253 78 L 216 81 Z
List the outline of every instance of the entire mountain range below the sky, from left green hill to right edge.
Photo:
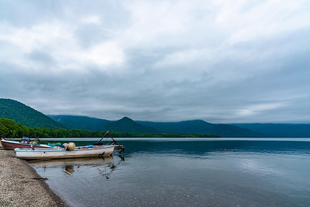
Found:
M 0 99 L 0 118 L 31 128 L 63 128 L 125 133 L 214 134 L 221 137 L 310 137 L 310 124 L 211 124 L 204 120 L 180 122 L 117 121 L 73 115 L 45 115 L 25 104 Z

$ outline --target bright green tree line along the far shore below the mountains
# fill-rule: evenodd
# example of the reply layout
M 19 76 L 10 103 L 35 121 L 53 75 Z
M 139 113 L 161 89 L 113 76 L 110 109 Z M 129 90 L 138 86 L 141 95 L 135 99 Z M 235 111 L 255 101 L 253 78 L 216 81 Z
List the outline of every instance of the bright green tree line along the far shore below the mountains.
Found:
M 6 134 L 12 130 L 13 135 Z M 86 137 L 103 137 L 105 132 L 87 131 L 79 129 L 62 129 L 62 128 L 31 128 L 8 118 L 0 118 L 0 135 L 6 134 L 5 138 L 86 138 Z M 126 133 L 110 132 L 112 137 L 116 138 L 219 138 L 220 135 L 214 134 L 174 134 L 174 133 Z

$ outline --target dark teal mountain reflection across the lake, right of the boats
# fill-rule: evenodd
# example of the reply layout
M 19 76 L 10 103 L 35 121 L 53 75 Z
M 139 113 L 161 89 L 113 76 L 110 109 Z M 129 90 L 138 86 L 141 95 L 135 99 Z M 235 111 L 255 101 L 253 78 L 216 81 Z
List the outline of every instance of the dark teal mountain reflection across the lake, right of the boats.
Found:
M 124 155 L 145 152 L 148 154 L 208 155 L 210 153 L 267 153 L 267 154 L 310 154 L 310 142 L 269 140 L 125 140 Z

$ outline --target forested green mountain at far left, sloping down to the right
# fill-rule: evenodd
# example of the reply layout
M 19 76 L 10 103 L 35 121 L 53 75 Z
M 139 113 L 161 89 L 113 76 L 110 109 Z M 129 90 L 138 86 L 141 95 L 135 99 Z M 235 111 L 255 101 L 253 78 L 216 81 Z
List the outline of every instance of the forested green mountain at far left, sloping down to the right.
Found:
M 9 118 L 31 128 L 68 128 L 43 113 L 11 99 L 0 99 L 0 118 Z

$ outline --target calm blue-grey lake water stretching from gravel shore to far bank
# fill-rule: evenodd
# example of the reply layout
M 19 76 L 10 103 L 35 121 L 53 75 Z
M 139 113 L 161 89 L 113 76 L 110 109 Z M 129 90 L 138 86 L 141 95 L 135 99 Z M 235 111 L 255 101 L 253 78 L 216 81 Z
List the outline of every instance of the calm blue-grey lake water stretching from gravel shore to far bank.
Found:
M 122 156 L 29 163 L 72 207 L 310 206 L 308 138 L 117 141 Z

